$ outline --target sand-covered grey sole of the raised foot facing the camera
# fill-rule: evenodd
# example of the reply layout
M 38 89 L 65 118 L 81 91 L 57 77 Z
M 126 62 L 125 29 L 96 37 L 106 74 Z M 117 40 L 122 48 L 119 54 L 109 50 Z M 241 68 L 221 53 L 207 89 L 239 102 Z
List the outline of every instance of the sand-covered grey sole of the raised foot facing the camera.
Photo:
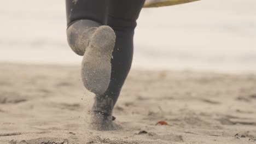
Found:
M 111 75 L 111 58 L 115 33 L 109 26 L 100 26 L 90 39 L 82 62 L 84 86 L 95 94 L 107 91 Z

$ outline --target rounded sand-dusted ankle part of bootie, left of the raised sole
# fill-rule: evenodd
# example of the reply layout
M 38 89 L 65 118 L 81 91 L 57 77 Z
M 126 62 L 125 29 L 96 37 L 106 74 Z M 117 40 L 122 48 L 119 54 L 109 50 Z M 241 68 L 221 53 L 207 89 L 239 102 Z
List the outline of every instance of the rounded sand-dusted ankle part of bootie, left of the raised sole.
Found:
M 100 24 L 91 20 L 78 20 L 67 28 L 67 40 L 77 55 L 83 56 L 92 34 Z

